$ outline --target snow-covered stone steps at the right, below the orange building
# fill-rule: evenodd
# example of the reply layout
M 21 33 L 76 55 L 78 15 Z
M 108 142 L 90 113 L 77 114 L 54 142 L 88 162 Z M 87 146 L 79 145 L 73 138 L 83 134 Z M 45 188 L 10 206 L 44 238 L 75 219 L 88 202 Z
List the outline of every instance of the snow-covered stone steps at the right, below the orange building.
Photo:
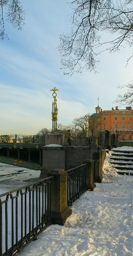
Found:
M 116 172 L 119 174 L 133 175 L 133 148 L 112 148 L 110 164 L 116 168 Z

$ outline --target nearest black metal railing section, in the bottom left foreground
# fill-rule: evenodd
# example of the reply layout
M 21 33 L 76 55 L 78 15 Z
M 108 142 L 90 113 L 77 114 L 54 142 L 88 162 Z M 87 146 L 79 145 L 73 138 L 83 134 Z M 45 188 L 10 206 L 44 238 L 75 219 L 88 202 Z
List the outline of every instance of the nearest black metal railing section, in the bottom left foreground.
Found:
M 0 256 L 11 256 L 51 223 L 52 179 L 0 195 Z

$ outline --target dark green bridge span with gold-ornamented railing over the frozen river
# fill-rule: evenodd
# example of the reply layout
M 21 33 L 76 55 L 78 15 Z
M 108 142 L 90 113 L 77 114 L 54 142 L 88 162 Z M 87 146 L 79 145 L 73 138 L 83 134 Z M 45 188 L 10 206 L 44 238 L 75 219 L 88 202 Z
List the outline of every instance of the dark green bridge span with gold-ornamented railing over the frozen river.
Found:
M 45 136 L 0 135 L 0 162 L 40 170 Z

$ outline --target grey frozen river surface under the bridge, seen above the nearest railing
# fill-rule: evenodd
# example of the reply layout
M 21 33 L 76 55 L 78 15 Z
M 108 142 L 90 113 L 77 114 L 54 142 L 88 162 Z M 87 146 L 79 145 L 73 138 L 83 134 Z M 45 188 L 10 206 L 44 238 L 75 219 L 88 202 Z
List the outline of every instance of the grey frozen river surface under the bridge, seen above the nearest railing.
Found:
M 39 180 L 40 170 L 0 163 L 0 194 Z

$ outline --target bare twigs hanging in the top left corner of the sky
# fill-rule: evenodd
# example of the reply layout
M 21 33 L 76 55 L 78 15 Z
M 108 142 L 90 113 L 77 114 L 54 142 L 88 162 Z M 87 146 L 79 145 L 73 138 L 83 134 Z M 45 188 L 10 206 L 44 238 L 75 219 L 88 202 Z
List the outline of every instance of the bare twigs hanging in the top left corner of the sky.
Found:
M 19 0 L 0 0 L 0 39 L 3 40 L 8 37 L 5 33 L 5 23 L 11 23 L 14 28 L 20 29 L 24 25 L 25 12 L 20 5 Z

